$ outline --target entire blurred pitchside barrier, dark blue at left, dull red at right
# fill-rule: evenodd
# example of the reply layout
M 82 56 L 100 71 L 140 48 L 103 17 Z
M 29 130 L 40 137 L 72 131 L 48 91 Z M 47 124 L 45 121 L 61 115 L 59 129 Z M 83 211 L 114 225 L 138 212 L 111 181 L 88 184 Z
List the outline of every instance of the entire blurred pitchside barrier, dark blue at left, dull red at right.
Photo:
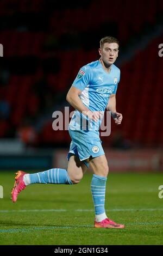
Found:
M 163 155 L 158 150 L 111 150 L 105 148 L 110 172 L 161 172 Z M 23 151 L 22 154 L 0 154 L 1 170 L 67 169 L 68 149 Z

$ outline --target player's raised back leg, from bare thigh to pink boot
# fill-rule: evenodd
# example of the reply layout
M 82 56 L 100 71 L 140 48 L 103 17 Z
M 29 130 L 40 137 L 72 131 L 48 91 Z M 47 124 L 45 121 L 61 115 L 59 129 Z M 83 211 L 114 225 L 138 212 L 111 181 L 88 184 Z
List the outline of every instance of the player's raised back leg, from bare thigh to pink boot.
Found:
M 79 157 L 72 155 L 70 156 L 67 170 L 53 168 L 33 174 L 20 170 L 16 173 L 14 188 L 12 188 L 12 201 L 16 202 L 18 193 L 30 184 L 77 184 L 82 179 L 86 169 L 85 163 L 81 162 Z

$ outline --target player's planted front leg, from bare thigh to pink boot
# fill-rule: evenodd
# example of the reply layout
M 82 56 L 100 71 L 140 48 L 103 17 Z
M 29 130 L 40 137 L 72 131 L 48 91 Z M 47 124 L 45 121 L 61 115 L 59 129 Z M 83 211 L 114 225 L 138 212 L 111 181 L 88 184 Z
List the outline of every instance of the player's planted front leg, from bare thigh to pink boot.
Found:
M 124 225 L 111 221 L 105 213 L 105 189 L 109 172 L 105 155 L 94 157 L 89 164 L 94 173 L 91 181 L 91 192 L 96 213 L 95 227 L 124 228 Z

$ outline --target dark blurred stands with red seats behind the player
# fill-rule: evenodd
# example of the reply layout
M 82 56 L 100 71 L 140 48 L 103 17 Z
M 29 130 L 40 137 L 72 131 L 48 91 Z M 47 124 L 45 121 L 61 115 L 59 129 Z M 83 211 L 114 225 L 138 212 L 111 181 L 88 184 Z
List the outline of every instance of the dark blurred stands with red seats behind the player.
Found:
M 68 147 L 68 131 L 53 131 L 52 113 L 69 106 L 79 68 L 99 59 L 99 41 L 108 35 L 120 41 L 123 121 L 112 121 L 104 147 L 162 149 L 162 22 L 161 0 L 1 0 L 0 138 L 27 148 Z

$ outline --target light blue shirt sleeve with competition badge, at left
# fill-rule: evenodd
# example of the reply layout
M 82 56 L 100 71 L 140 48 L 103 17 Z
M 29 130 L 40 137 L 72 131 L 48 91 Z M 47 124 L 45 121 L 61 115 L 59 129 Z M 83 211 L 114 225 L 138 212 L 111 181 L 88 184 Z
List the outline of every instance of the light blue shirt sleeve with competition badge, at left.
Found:
M 79 90 L 83 91 L 85 87 L 91 83 L 93 71 L 90 66 L 83 66 L 74 80 L 72 86 L 78 88 Z

